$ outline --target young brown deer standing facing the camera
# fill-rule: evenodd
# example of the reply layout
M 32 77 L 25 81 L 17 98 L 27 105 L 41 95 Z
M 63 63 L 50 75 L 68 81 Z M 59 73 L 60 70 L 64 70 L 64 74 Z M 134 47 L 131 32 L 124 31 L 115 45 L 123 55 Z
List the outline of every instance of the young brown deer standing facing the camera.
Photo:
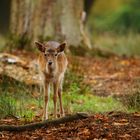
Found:
M 56 41 L 45 43 L 36 41 L 35 45 L 40 51 L 38 62 L 44 91 L 43 119 L 48 119 L 50 84 L 53 86 L 53 115 L 57 118 L 57 98 L 59 98 L 60 116 L 62 117 L 65 115 L 62 104 L 62 85 L 68 65 L 68 60 L 64 53 L 66 42 L 60 44 Z

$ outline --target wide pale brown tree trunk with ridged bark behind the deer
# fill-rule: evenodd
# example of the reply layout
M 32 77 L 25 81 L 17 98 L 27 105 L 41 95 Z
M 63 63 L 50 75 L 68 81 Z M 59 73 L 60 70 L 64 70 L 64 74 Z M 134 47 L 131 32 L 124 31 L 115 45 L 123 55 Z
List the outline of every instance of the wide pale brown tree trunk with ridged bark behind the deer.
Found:
M 29 40 L 31 46 L 35 40 L 66 40 L 70 46 L 91 47 L 84 31 L 83 8 L 82 0 L 13 0 L 11 33 L 20 38 L 21 48 Z

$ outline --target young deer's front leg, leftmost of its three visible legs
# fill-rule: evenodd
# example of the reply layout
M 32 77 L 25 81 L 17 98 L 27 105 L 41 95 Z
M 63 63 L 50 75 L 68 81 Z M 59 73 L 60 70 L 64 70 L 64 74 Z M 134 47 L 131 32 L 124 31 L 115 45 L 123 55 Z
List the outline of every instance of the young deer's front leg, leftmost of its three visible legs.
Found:
M 48 119 L 48 101 L 49 101 L 49 91 L 50 85 L 49 83 L 45 83 L 44 85 L 44 119 Z

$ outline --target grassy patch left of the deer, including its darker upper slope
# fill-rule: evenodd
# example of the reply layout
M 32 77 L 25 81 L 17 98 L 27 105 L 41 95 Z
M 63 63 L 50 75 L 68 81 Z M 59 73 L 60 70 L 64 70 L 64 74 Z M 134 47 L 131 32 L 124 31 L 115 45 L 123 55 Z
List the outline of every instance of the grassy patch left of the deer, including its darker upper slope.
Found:
M 7 76 L 0 77 L 0 118 L 15 116 L 32 119 L 34 112 L 28 106 L 36 102 L 32 100 L 32 87 L 20 83 Z M 36 104 L 36 103 L 34 103 Z M 39 102 L 38 104 L 39 105 Z

